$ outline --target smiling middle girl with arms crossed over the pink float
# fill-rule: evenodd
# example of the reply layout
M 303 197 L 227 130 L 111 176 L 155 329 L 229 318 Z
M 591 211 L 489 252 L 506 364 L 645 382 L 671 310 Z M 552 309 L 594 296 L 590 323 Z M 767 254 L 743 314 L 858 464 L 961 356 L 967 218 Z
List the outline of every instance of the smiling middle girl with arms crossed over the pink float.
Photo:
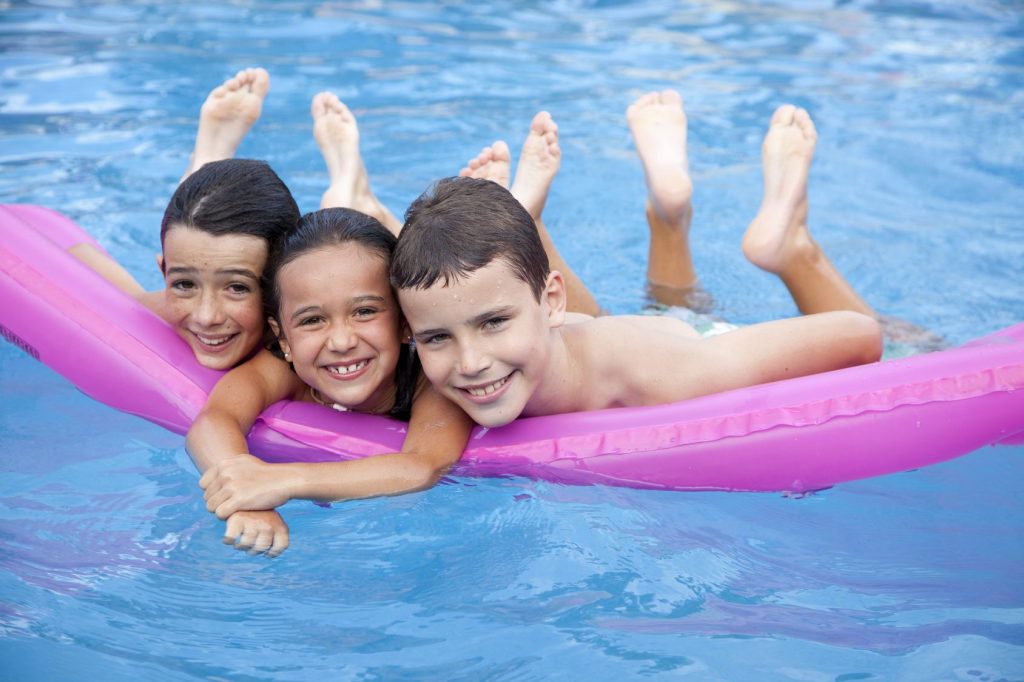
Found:
M 290 499 L 342 500 L 432 485 L 458 461 L 472 426 L 420 376 L 388 282 L 395 238 L 347 209 L 310 213 L 267 265 L 267 313 L 286 363 L 261 351 L 221 379 L 187 435 L 205 473 L 207 509 L 227 519 L 225 542 L 280 554 L 288 530 L 274 513 L 242 510 Z M 294 372 L 293 372 L 294 369 Z M 266 464 L 245 434 L 270 404 L 290 398 L 409 420 L 402 452 L 317 464 Z

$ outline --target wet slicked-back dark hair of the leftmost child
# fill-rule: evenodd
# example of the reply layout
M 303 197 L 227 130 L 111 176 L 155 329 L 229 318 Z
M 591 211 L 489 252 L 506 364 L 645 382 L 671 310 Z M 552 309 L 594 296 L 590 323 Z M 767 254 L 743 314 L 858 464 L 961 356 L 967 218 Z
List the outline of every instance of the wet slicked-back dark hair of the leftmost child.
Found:
M 160 243 L 175 226 L 209 235 L 258 237 L 269 250 L 299 220 L 299 207 L 263 161 L 225 159 L 204 164 L 175 190 L 160 223 Z

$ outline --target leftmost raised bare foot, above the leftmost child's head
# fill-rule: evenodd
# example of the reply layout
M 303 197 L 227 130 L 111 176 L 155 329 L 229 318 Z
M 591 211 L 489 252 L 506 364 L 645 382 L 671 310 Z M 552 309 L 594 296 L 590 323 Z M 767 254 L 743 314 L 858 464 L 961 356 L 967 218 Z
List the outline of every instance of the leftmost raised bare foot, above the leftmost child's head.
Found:
M 259 118 L 269 89 L 270 76 L 264 69 L 246 69 L 210 91 L 199 113 L 196 148 L 185 177 L 203 164 L 234 156 Z

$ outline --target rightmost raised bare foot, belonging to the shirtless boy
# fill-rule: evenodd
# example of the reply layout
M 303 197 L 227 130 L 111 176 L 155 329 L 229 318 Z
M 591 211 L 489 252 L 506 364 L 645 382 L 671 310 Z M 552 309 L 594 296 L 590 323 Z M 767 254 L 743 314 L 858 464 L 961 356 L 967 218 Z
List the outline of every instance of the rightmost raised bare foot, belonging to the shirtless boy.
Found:
M 742 244 L 748 260 L 769 272 L 779 274 L 794 258 L 817 251 L 807 229 L 807 177 L 817 140 L 805 110 L 775 110 L 761 147 L 765 195 Z

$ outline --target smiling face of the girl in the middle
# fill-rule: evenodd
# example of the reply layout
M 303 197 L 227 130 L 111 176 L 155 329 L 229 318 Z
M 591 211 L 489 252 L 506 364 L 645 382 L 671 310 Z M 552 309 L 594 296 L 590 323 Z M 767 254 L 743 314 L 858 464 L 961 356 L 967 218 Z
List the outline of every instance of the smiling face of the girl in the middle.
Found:
M 299 378 L 349 410 L 389 410 L 403 323 L 384 259 L 353 242 L 310 251 L 279 270 L 278 291 L 270 325 Z

